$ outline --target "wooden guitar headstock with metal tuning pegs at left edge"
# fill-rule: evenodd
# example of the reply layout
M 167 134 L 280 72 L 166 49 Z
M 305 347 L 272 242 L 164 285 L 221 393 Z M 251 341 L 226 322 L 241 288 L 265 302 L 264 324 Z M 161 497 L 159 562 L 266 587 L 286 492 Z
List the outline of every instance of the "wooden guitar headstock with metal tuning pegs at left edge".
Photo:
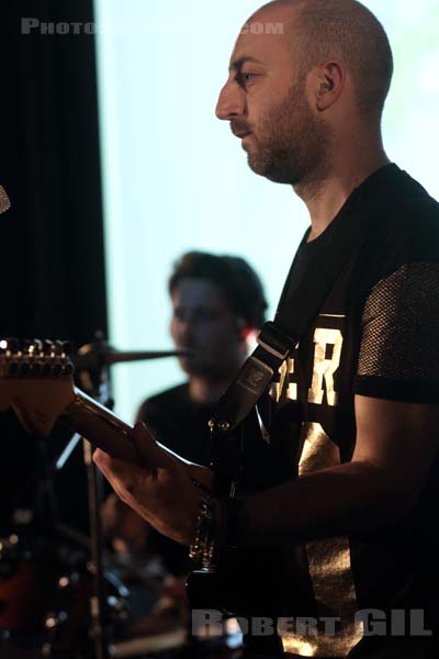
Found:
M 0 411 L 13 407 L 31 434 L 47 436 L 75 395 L 68 348 L 60 340 L 0 338 Z

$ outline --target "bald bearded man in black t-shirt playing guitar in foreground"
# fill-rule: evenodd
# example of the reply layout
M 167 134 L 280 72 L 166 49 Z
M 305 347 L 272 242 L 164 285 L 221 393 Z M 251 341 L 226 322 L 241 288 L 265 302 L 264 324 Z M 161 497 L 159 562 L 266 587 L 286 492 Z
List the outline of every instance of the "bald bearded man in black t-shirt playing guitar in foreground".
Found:
M 145 428 L 134 437 L 150 471 L 95 455 L 120 496 L 178 541 L 196 537 L 217 560 L 279 549 L 278 637 L 254 627 L 249 657 L 439 656 L 439 210 L 384 152 L 392 74 L 385 32 L 359 2 L 271 2 L 239 34 L 216 108 L 250 168 L 308 209 L 292 290 L 305 270 L 318 277 L 348 225 L 361 235 L 271 386 L 273 436 L 300 403 L 291 480 L 222 505 L 201 502 Z

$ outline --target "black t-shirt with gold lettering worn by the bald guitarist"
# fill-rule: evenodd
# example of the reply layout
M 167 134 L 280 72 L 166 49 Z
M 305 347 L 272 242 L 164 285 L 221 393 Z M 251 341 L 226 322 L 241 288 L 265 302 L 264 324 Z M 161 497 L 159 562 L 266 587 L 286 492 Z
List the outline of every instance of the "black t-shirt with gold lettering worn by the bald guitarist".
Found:
M 307 232 L 290 286 L 299 286 L 309 261 L 318 276 L 346 223 L 356 221 L 364 222 L 364 238 L 271 388 L 277 414 L 291 401 L 300 409 L 301 474 L 351 459 L 354 394 L 439 402 L 439 205 L 408 175 L 384 167 L 353 191 L 318 238 L 306 243 Z M 361 638 L 353 625 L 359 610 L 424 608 L 428 616 L 439 595 L 438 501 L 436 460 L 404 523 L 286 548 L 295 566 L 289 587 L 303 589 L 304 602 L 313 603 L 305 615 L 338 616 L 344 624 L 335 638 L 283 634 L 284 649 L 347 656 Z

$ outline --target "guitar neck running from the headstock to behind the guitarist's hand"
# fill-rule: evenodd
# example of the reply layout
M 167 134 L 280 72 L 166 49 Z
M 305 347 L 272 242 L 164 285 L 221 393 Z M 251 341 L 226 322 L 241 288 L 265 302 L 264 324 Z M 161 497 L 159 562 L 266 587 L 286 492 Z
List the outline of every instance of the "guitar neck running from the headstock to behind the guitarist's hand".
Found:
M 138 465 L 138 454 L 132 439 L 132 426 L 80 389 L 75 388 L 74 400 L 64 409 L 59 418 L 113 458 Z M 207 489 L 211 488 L 210 469 L 185 460 L 159 442 L 157 446 L 184 465 L 193 480 Z

